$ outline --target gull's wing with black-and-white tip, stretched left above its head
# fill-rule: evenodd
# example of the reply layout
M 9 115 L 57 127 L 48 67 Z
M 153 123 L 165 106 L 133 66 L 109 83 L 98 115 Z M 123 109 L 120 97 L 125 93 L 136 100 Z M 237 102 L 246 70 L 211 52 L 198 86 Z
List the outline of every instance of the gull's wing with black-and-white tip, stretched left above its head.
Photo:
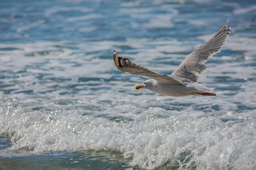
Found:
M 118 57 L 115 51 L 113 57 L 114 64 L 116 65 L 117 69 L 119 69 L 121 72 L 127 72 L 142 75 L 145 77 L 150 77 L 151 79 L 155 79 L 156 81 L 159 81 L 160 83 L 164 84 L 181 84 L 181 81 L 178 81 L 163 74 L 152 72 L 149 69 L 146 69 L 145 67 L 139 66 L 134 62 L 131 62 L 127 58 Z

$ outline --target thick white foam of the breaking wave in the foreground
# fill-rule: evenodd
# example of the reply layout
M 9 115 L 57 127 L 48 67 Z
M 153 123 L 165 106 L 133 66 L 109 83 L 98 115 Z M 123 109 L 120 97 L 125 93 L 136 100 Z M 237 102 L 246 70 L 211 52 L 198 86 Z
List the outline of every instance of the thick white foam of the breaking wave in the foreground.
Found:
M 125 106 L 114 106 L 105 112 L 130 110 L 127 109 Z M 8 111 L 7 108 L 3 110 L 6 115 L 1 119 L 1 133 L 14 132 L 12 138 L 17 140 L 11 147 L 14 150 L 111 150 L 122 152 L 125 158 L 132 158 L 131 165 L 146 169 L 154 169 L 168 161 L 173 166 L 196 164 L 198 169 L 209 166 L 241 169 L 245 164 L 240 162 L 255 166 L 254 157 L 250 155 L 256 151 L 256 127 L 250 120 L 245 120 L 246 124 L 233 120 L 234 125 L 230 126 L 201 111 L 191 112 L 189 108 L 185 111 L 149 108 L 139 115 L 126 115 L 134 119 L 128 123 L 80 115 L 75 111 L 41 114 L 12 107 Z M 235 157 L 240 152 L 247 154 Z

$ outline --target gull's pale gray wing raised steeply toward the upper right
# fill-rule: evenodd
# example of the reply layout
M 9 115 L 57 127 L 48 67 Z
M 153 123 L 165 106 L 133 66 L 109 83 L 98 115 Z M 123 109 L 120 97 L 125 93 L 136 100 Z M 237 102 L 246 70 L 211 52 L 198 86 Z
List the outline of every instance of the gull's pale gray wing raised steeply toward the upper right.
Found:
M 229 21 L 229 20 L 228 20 Z M 227 23 L 211 38 L 206 44 L 191 52 L 185 60 L 175 69 L 171 76 L 184 82 L 197 81 L 198 76 L 206 69 L 204 65 L 209 57 L 220 52 L 225 41 L 230 35 L 231 28 L 227 28 Z

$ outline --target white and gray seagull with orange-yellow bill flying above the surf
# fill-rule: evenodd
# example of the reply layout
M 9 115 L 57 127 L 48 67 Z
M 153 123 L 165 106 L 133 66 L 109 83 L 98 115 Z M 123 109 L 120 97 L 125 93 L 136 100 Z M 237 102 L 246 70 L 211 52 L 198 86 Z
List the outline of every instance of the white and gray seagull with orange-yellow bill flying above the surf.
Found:
M 228 20 L 229 21 L 229 20 Z M 149 77 L 135 89 L 149 89 L 166 96 L 216 96 L 213 89 L 198 84 L 198 74 L 206 69 L 205 63 L 213 55 L 220 52 L 230 35 L 231 28 L 227 23 L 206 44 L 191 52 L 171 75 L 152 72 L 130 61 L 126 57 L 118 57 L 113 52 L 114 64 L 121 72 Z

